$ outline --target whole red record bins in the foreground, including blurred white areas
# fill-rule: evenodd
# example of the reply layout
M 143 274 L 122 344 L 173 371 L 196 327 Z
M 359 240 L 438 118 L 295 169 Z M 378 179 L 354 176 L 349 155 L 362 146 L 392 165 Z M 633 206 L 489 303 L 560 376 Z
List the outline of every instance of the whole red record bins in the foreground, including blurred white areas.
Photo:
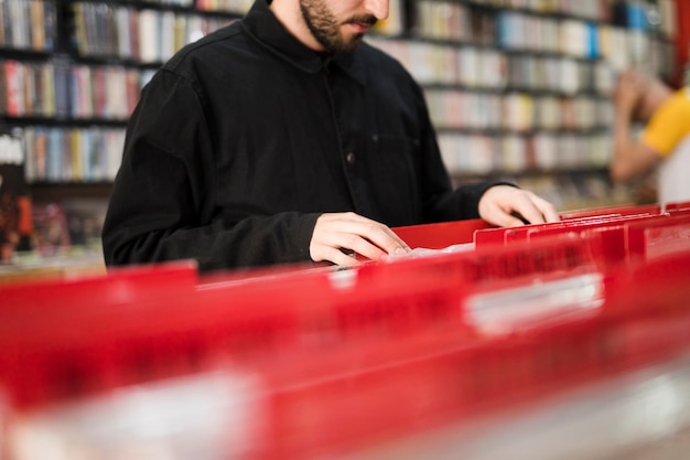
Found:
M 690 429 L 689 216 L 396 228 L 409 256 L 346 270 L 1 286 L 0 453 L 632 458 Z

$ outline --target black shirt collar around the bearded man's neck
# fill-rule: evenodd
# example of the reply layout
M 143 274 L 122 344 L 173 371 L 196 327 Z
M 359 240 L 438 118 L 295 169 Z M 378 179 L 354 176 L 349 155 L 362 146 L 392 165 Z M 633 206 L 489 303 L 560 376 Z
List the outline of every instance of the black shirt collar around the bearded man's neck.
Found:
M 304 72 L 315 74 L 333 62 L 359 84 L 365 84 L 359 53 L 338 53 L 328 58 L 320 56 L 288 32 L 269 8 L 267 0 L 255 1 L 242 19 L 242 25 L 261 45 Z

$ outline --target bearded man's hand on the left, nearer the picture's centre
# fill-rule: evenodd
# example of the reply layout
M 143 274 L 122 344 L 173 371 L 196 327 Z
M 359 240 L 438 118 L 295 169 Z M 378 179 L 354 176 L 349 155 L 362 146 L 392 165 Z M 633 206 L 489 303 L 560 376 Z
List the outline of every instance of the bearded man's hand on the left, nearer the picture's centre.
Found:
M 358 261 L 346 253 L 371 260 L 405 254 L 410 247 L 389 227 L 355 213 L 326 213 L 316 220 L 309 254 L 314 261 L 327 260 L 353 266 Z

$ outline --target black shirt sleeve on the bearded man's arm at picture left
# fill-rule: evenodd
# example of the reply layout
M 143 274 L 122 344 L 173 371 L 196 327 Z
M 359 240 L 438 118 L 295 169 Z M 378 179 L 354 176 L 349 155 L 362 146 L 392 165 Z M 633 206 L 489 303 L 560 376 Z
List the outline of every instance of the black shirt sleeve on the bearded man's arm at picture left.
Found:
M 104 223 L 107 266 L 194 259 L 211 271 L 311 261 L 319 214 L 240 216 L 216 206 L 204 120 L 203 98 L 184 78 L 163 71 L 144 88 Z

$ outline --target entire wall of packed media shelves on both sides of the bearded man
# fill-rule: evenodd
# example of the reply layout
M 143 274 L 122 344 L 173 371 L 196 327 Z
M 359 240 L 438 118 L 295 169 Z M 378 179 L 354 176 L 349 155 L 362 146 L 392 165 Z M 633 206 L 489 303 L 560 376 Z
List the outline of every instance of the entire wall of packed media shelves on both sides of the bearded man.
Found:
M 367 36 L 423 85 L 457 183 L 508 179 L 560 208 L 629 201 L 606 165 L 615 72 L 676 72 L 673 0 L 393 0 Z M 141 87 L 251 0 L 0 1 L 0 122 L 37 200 L 107 200 Z M 580 184 L 591 182 L 584 190 Z

